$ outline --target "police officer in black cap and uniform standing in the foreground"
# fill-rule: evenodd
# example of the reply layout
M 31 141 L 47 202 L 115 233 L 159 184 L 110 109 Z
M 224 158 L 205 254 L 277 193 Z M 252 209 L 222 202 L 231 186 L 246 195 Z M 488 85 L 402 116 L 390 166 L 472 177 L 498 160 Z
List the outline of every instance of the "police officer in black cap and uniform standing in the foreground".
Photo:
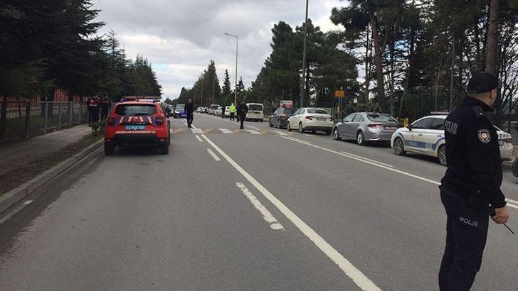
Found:
M 498 86 L 495 75 L 476 73 L 467 84 L 467 97 L 445 120 L 448 169 L 440 197 L 448 219 L 440 290 L 470 290 L 482 263 L 489 216 L 497 224 L 509 219 L 500 190 L 498 136 L 486 116 L 493 111 Z

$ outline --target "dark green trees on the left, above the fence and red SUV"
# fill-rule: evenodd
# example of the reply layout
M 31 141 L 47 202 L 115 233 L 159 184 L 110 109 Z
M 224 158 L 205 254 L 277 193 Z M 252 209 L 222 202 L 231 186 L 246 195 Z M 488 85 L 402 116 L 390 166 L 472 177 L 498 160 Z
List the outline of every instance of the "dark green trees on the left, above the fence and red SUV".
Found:
M 160 96 L 151 64 L 127 59 L 113 31 L 90 0 L 4 0 L 0 6 L 0 95 L 46 97 L 56 89 L 73 96 Z

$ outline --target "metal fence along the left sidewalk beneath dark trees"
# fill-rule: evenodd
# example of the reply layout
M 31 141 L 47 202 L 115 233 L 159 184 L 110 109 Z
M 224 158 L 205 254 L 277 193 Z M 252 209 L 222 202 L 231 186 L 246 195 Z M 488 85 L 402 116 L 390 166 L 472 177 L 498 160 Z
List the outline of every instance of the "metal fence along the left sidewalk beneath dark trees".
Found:
M 0 142 L 37 136 L 88 121 L 88 109 L 72 101 L 0 102 Z

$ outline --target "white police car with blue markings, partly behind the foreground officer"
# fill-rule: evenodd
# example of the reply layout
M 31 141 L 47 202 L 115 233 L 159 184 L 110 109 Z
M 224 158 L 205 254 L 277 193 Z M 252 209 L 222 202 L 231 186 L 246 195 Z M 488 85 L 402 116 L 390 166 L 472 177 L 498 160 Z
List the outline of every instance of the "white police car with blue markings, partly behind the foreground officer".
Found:
M 425 116 L 414 123 L 398 128 L 391 138 L 391 147 L 396 155 L 407 152 L 430 155 L 446 165 L 446 146 L 444 139 L 444 121 L 446 114 Z M 512 160 L 514 146 L 512 136 L 495 126 L 498 133 L 502 160 Z

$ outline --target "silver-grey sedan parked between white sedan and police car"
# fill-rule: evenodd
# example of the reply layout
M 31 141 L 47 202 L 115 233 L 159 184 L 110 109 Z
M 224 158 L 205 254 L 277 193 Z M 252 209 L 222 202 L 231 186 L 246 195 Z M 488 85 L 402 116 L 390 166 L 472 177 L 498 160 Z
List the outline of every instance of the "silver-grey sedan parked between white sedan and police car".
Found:
M 401 124 L 388 114 L 355 112 L 333 127 L 335 140 L 351 139 L 360 146 L 369 141 L 391 141 L 392 133 Z

